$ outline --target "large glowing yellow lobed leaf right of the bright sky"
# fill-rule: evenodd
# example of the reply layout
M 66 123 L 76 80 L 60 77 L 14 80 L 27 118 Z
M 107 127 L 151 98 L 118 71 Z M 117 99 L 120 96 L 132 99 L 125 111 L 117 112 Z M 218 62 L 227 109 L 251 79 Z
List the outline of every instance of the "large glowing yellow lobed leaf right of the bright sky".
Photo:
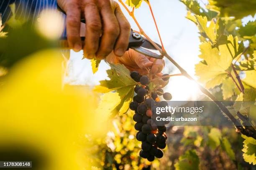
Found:
M 233 36 L 228 36 L 228 40 L 233 42 Z M 210 42 L 203 42 L 200 45 L 201 55 L 199 57 L 205 60 L 205 63 L 199 62 L 196 64 L 195 73 L 200 77 L 200 82 L 206 83 L 207 88 L 220 85 L 222 80 L 228 75 L 226 70 L 230 67 L 233 58 L 227 46 L 230 48 L 232 55 L 235 55 L 232 43 L 219 45 L 219 50 L 216 47 L 212 48 Z

